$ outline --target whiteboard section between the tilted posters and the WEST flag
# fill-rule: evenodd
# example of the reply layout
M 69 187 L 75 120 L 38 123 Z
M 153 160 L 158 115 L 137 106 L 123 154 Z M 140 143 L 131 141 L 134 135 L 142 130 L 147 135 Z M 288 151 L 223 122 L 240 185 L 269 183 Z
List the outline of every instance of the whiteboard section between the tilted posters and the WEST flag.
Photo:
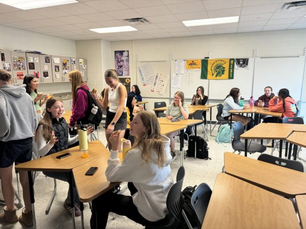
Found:
M 185 62 L 185 73 L 180 74 L 181 76 L 181 87 L 173 88 L 171 87 L 171 96 L 174 96 L 174 93 L 177 91 L 184 92 L 185 99 L 192 99 L 193 95 L 196 94 L 196 89 L 199 86 L 204 88 L 204 95 L 208 95 L 208 80 L 201 79 L 201 69 L 198 70 L 186 70 L 186 61 Z M 175 73 L 175 63 L 173 66 L 172 73 Z M 171 75 L 172 80 L 173 74 Z M 172 85 L 171 85 L 172 86 Z

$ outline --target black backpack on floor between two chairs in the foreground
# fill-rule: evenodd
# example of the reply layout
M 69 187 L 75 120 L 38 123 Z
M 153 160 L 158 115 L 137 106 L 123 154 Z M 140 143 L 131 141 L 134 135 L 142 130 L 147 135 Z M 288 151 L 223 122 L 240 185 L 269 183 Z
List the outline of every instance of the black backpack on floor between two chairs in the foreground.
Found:
M 196 185 L 194 187 L 188 186 L 184 188 L 184 190 L 182 191 L 183 196 L 184 196 L 183 210 L 192 227 L 198 226 L 196 213 L 193 210 L 193 207 L 191 206 L 191 196 L 194 193 L 195 188 L 196 188 Z

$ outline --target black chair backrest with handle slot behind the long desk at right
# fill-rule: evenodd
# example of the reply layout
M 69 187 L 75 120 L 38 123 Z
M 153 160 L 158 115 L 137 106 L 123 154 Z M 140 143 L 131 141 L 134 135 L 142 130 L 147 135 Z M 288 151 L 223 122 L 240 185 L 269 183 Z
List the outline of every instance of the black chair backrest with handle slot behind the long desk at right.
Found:
M 304 172 L 303 164 L 300 161 L 293 161 L 285 158 L 279 158 L 269 154 L 261 154 L 259 155 L 257 160 L 268 162 L 270 164 L 275 164 L 285 168 L 294 169 L 296 171 L 301 171 L 302 173 Z

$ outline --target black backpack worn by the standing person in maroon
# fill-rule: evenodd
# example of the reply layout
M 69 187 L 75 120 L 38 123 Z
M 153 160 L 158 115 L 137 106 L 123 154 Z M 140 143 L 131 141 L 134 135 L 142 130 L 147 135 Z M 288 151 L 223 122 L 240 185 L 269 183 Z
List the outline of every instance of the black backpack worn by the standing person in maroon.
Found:
M 80 124 L 80 122 L 82 122 L 82 124 L 94 124 L 95 129 L 99 126 L 100 122 L 102 121 L 102 110 L 100 108 L 98 108 L 98 111 L 96 112 L 95 116 L 93 117 L 92 121 L 88 120 L 88 117 L 91 113 L 91 109 L 93 107 L 93 105 L 98 106 L 97 102 L 94 100 L 94 98 L 92 98 L 91 94 L 89 91 L 82 89 L 84 92 L 86 92 L 87 97 L 88 97 L 88 106 L 87 106 L 87 110 L 85 111 L 85 117 L 83 117 L 82 119 L 78 120 L 78 124 Z

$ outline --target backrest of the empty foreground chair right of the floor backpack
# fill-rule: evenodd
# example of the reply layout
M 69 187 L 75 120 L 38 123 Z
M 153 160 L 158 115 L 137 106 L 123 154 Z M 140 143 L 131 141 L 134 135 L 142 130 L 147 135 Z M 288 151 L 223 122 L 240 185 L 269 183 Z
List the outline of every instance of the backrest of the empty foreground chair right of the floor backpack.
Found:
M 204 220 L 212 190 L 206 183 L 201 183 L 191 196 L 191 206 L 196 213 L 198 228 L 201 228 Z

